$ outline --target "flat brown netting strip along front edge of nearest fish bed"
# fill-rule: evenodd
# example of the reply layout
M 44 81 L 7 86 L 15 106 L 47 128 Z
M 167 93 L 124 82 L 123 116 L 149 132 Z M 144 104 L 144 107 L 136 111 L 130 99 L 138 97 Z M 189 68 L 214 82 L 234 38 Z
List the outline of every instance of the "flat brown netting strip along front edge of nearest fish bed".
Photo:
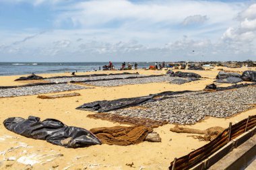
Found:
M 106 113 L 99 113 L 99 114 L 89 114 L 88 118 L 94 119 L 101 119 L 101 120 L 108 120 L 110 122 L 119 122 L 121 124 L 129 124 L 129 125 L 137 125 L 137 126 L 147 126 L 150 128 L 158 128 L 164 124 L 167 124 L 166 121 L 156 121 L 146 118 L 132 118 L 128 116 L 119 116 L 118 114 L 106 114 Z

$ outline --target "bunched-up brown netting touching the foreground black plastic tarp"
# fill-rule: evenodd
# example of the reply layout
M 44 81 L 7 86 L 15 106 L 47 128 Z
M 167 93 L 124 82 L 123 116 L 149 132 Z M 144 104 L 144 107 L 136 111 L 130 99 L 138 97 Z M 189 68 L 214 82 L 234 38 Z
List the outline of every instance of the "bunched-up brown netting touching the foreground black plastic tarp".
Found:
M 92 128 L 90 130 L 95 134 L 103 144 L 116 144 L 127 146 L 129 144 L 138 144 L 145 140 L 152 128 L 146 126 L 114 126 L 110 128 Z

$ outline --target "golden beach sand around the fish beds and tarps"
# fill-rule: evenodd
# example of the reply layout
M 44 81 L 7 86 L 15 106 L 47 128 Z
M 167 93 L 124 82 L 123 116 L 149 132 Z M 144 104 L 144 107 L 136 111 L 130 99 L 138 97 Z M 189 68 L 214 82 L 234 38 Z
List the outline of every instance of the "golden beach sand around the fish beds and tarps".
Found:
M 148 83 L 140 85 L 124 85 L 120 87 L 95 87 L 94 89 L 82 89 L 77 91 L 81 96 L 65 97 L 57 99 L 40 99 L 37 95 L 22 97 L 0 98 L 0 122 L 5 118 L 20 116 L 38 116 L 41 120 L 45 118 L 55 118 L 61 120 L 68 126 L 77 126 L 90 130 L 91 128 L 123 126 L 123 124 L 108 122 L 104 120 L 94 120 L 87 118 L 88 114 L 94 112 L 75 110 L 83 103 L 102 99 L 119 99 L 122 97 L 137 97 L 149 95 L 150 93 L 160 93 L 162 91 L 181 91 L 181 90 L 201 90 L 205 85 L 214 81 L 220 67 L 212 71 L 188 71 L 198 73 L 202 77 L 200 81 L 185 83 L 183 85 L 173 85 L 170 83 Z M 230 71 L 245 71 L 247 68 L 227 69 Z M 252 68 L 252 70 L 255 70 Z M 183 70 L 184 71 L 184 70 Z M 125 71 L 136 73 L 137 71 Z M 139 70 L 144 75 L 160 75 L 166 71 L 145 71 Z M 95 73 L 122 73 L 122 71 L 97 71 Z M 77 73 L 77 75 L 94 74 L 94 72 Z M 57 75 L 70 75 L 70 73 L 58 73 L 40 75 L 42 77 L 52 77 Z M 19 76 L 0 77 L 0 85 L 23 85 L 27 82 L 13 81 Z M 222 87 L 228 84 L 221 85 Z M 54 94 L 71 93 L 70 91 Z M 53 94 L 53 93 L 52 93 Z M 227 128 L 229 122 L 233 124 L 247 118 L 249 115 L 256 114 L 256 109 L 243 112 L 232 118 L 207 118 L 195 125 L 186 126 L 205 130 L 213 126 Z M 155 128 L 154 131 L 160 134 L 162 142 L 142 142 L 140 144 L 129 146 L 115 145 L 96 145 L 87 148 L 64 148 L 50 144 L 44 140 L 34 140 L 6 130 L 3 124 L 0 124 L 0 169 L 26 169 L 24 158 L 34 158 L 33 169 L 167 169 L 174 157 L 182 157 L 191 151 L 203 146 L 207 142 L 199 141 L 188 137 L 191 134 L 177 134 L 170 132 L 173 124 L 166 124 Z M 7 151 L 11 147 L 21 146 L 9 150 L 5 154 L 5 159 L 15 159 L 15 161 L 2 161 L 4 159 L 1 151 Z M 44 155 L 46 154 L 46 155 Z M 47 156 L 51 155 L 51 156 Z M 22 157 L 22 158 L 20 158 Z M 20 158 L 20 159 L 19 159 Z M 39 161 L 40 162 L 39 162 Z M 28 160 L 27 160 L 28 161 Z M 36 162 L 36 163 L 35 163 Z M 132 167 L 126 164 L 132 164 Z M 135 168 L 133 168 L 135 167 Z

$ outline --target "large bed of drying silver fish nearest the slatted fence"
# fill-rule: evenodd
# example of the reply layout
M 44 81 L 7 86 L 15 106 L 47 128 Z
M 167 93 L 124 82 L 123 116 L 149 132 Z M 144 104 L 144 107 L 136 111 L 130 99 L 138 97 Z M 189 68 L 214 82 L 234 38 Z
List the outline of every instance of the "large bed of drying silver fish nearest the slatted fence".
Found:
M 108 113 L 176 124 L 195 124 L 205 116 L 227 118 L 253 108 L 256 103 L 255 93 L 255 86 L 212 93 L 197 91 L 143 103 L 136 109 L 125 108 Z

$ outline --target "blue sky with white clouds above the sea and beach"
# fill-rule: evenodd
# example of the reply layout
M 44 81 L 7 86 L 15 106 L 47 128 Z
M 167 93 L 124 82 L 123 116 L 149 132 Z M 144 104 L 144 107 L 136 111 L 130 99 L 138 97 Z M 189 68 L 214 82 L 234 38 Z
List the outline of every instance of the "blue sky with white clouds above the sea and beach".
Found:
M 256 60 L 256 1 L 0 0 L 0 61 Z

